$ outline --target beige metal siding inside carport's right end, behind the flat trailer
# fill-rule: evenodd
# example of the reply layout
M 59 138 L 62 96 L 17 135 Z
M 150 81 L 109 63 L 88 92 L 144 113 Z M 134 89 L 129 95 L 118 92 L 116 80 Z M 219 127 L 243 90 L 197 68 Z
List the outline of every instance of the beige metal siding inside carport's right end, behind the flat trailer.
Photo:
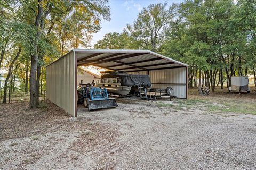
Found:
M 186 67 L 177 69 L 164 69 L 149 71 L 152 88 L 165 89 L 171 86 L 174 95 L 178 98 L 186 98 Z

